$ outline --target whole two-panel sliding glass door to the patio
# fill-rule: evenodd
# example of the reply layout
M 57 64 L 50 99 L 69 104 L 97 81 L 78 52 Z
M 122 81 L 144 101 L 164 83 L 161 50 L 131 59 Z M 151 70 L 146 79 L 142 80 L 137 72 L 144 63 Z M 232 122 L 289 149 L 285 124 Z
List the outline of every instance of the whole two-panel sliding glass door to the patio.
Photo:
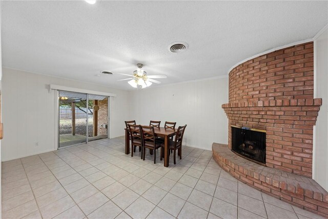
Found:
M 58 100 L 59 148 L 108 137 L 107 96 L 59 91 Z

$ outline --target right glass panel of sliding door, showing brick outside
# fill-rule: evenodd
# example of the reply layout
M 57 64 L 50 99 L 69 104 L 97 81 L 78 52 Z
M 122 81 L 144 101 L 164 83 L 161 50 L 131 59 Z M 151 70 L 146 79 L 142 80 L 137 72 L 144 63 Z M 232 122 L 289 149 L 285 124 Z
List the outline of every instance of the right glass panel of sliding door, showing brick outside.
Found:
M 88 142 L 108 137 L 108 97 L 88 94 Z

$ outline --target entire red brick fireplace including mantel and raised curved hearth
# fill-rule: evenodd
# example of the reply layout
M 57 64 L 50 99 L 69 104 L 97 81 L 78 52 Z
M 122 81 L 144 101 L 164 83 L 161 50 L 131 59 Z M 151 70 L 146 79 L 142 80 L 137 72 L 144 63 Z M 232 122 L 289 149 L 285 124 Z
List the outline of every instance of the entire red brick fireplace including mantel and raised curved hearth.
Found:
M 229 103 L 222 105 L 229 119 L 229 151 L 213 146 L 213 157 L 239 180 L 328 216 L 328 194 L 312 180 L 313 126 L 321 106 L 321 99 L 313 98 L 313 66 L 309 42 L 233 68 Z M 230 152 L 232 127 L 266 132 L 265 167 Z

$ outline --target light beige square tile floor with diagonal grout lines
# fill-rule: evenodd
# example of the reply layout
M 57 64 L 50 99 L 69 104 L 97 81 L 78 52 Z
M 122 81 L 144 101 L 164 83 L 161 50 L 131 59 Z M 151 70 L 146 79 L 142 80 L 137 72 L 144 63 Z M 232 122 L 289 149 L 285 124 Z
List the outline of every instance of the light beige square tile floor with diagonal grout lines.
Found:
M 159 153 L 157 153 L 158 155 Z M 212 152 L 170 167 L 124 153 L 124 137 L 2 164 L 3 218 L 321 218 L 238 182 Z

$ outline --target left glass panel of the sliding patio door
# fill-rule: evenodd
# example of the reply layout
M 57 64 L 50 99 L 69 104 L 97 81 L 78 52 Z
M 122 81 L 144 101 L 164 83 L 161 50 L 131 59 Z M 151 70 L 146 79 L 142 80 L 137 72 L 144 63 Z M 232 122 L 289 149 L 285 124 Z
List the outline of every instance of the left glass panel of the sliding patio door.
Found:
M 87 142 L 87 94 L 59 91 L 59 148 Z

